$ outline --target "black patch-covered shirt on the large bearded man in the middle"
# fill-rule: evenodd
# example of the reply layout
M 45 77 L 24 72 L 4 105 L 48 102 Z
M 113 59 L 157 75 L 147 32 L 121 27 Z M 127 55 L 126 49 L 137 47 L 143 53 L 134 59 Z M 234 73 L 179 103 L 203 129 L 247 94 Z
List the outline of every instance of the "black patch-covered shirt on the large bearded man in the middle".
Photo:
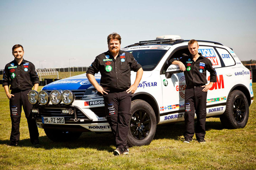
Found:
M 125 91 L 131 86 L 131 70 L 137 72 L 140 64 L 129 52 L 119 51 L 116 59 L 109 51 L 98 55 L 91 66 L 88 74 L 101 73 L 101 86 L 111 90 Z

